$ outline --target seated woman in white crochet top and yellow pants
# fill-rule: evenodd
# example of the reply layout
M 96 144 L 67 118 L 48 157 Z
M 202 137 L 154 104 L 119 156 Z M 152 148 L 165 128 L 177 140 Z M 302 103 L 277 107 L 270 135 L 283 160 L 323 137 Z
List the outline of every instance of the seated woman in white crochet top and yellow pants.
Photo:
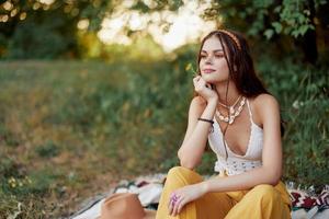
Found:
M 202 41 L 189 125 L 160 198 L 157 219 L 291 218 L 282 174 L 281 117 L 256 76 L 246 39 L 219 30 Z M 193 169 L 208 140 L 218 176 Z

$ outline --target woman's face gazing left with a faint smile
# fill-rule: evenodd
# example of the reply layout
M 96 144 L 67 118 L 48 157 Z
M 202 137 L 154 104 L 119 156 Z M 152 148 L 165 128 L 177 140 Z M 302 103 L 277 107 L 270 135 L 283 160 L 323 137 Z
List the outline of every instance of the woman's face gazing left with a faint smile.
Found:
M 216 36 L 207 38 L 201 49 L 200 71 L 208 83 L 227 81 L 229 69 L 224 57 L 223 46 Z

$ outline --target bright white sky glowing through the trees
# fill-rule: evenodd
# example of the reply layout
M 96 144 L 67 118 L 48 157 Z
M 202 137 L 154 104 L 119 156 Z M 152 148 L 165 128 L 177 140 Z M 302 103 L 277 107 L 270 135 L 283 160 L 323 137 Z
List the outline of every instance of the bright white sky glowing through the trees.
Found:
M 151 0 L 144 0 L 151 4 Z M 196 0 L 186 0 L 178 12 L 161 11 L 143 14 L 139 11 L 127 10 L 134 3 L 132 0 L 124 0 L 123 3 L 102 22 L 102 28 L 98 37 L 105 44 L 132 44 L 132 39 L 125 35 L 124 26 L 133 31 L 147 31 L 167 53 L 200 39 L 201 36 L 216 27 L 215 22 L 204 21 L 201 15 L 209 7 L 209 1 L 200 3 Z M 163 26 L 163 22 L 170 25 Z M 78 24 L 79 25 L 79 24 Z M 81 26 L 88 25 L 82 21 Z

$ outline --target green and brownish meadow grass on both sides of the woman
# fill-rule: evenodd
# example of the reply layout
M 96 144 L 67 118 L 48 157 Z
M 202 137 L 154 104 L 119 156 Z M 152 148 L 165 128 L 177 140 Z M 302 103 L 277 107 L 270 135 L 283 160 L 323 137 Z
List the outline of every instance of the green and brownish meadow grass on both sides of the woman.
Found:
M 68 217 L 122 178 L 175 165 L 192 97 L 191 60 L 0 62 L 0 218 Z M 284 178 L 322 185 L 328 69 L 316 77 L 300 69 L 272 60 L 260 66 L 288 122 Z M 304 105 L 293 107 L 294 101 Z M 307 116 L 314 104 L 317 113 Z M 206 153 L 198 171 L 213 172 L 214 161 Z

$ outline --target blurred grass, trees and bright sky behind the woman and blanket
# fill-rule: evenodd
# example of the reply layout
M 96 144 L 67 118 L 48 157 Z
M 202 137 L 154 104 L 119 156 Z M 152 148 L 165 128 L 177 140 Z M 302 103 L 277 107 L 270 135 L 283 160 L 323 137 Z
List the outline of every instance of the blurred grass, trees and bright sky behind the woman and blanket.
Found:
M 218 27 L 246 35 L 281 103 L 283 180 L 328 184 L 328 1 L 1 0 L 0 218 L 68 217 L 177 165 L 200 41 Z

